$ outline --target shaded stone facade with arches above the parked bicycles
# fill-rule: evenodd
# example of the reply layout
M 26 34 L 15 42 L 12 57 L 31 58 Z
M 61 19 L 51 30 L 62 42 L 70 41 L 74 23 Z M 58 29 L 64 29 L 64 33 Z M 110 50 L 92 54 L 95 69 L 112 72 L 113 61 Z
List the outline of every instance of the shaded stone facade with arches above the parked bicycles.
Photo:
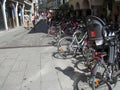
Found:
M 69 0 L 69 7 L 77 17 L 96 15 L 116 21 L 120 15 L 120 0 Z

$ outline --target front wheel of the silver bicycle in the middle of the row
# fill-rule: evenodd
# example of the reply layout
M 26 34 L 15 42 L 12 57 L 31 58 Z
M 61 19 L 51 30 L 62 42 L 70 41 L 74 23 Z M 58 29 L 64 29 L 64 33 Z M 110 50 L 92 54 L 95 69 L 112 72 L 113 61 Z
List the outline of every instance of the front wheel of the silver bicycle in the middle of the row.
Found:
M 57 49 L 59 55 L 64 59 L 72 58 L 74 56 L 76 45 L 73 37 L 64 37 L 60 39 Z

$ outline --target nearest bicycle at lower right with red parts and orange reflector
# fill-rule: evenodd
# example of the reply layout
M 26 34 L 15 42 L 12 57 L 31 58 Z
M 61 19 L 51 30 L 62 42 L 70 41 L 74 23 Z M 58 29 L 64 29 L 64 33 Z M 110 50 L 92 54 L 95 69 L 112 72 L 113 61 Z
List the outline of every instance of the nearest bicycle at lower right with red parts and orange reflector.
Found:
M 118 30 L 120 31 L 120 30 Z M 118 31 L 111 31 L 105 37 L 108 51 L 95 52 L 94 67 L 91 71 L 90 84 L 92 90 L 113 90 L 120 76 L 120 45 Z

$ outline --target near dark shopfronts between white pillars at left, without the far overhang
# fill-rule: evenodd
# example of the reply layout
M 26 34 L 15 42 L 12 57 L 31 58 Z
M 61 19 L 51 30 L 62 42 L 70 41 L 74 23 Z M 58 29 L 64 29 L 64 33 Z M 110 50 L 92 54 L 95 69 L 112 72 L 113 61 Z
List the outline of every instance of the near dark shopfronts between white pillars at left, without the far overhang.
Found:
M 2 19 L 2 25 L 0 30 L 14 28 L 22 25 L 23 23 L 23 11 L 24 4 L 21 0 L 1 0 L 0 1 L 0 12 Z

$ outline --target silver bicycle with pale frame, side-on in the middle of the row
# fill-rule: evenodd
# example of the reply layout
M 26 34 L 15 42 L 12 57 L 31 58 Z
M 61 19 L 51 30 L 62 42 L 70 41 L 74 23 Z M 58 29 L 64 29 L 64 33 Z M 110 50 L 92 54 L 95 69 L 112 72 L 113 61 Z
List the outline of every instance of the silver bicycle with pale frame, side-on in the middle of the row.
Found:
M 79 35 L 79 37 L 77 36 Z M 72 58 L 80 52 L 80 47 L 86 43 L 87 32 L 83 34 L 81 31 L 76 31 L 73 36 L 66 36 L 59 40 L 57 51 L 64 59 Z

